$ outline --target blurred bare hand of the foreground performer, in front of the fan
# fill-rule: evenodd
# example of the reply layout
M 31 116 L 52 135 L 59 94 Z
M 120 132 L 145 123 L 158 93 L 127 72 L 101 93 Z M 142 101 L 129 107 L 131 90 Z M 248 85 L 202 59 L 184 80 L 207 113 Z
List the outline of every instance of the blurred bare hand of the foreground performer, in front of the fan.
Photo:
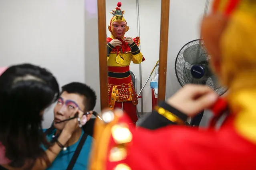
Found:
M 209 87 L 204 85 L 186 85 L 170 97 L 167 103 L 187 116 L 193 117 L 200 111 L 214 105 L 217 98 L 218 95 Z

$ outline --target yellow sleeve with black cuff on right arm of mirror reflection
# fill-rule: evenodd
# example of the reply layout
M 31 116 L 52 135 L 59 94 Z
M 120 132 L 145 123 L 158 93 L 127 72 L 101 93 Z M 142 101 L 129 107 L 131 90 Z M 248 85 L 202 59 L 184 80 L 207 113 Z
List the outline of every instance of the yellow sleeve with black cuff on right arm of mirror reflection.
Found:
M 139 43 L 140 43 L 140 39 L 139 39 L 139 37 L 136 37 L 133 39 L 133 41 L 134 42 L 130 45 L 131 54 L 132 54 L 131 61 L 133 61 L 133 63 L 135 63 L 135 64 L 139 64 L 145 60 L 141 51 L 139 50 L 139 47 L 138 47 Z

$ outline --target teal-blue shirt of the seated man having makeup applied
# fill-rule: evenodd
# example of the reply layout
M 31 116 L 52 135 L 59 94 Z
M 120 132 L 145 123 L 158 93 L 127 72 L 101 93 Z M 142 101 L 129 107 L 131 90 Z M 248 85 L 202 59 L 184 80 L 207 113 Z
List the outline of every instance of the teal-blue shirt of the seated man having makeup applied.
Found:
M 45 132 L 46 129 L 43 129 Z M 55 134 L 56 129 L 52 130 L 49 134 L 46 135 L 46 139 L 50 142 L 52 140 L 52 136 Z M 84 134 L 84 131 L 82 130 L 82 134 L 79 138 L 79 140 L 67 147 L 67 150 L 61 150 L 58 156 L 55 158 L 55 160 L 52 162 L 51 166 L 47 168 L 46 170 L 66 170 L 69 166 L 69 162 L 72 159 L 73 154 L 75 153 L 75 150 L 77 149 L 77 146 Z M 91 152 L 91 144 L 93 142 L 93 138 L 91 136 L 87 136 L 85 143 L 83 145 L 83 148 L 81 149 L 81 152 L 77 158 L 77 161 L 73 167 L 73 170 L 87 170 L 89 165 L 89 156 Z

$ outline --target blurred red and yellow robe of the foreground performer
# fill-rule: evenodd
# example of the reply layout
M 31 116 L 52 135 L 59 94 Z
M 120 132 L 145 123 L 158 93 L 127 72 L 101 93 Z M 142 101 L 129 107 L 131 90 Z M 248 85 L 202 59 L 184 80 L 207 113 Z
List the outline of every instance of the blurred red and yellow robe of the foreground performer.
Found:
M 255 96 L 256 90 L 239 91 L 228 102 L 218 101 L 211 126 L 200 130 L 185 125 L 136 128 L 126 114 L 115 111 L 113 121 L 95 124 L 90 170 L 254 170 Z M 215 122 L 227 108 L 230 113 L 217 130 Z M 185 120 L 166 103 L 152 116 L 156 122 L 165 119 L 172 124 Z

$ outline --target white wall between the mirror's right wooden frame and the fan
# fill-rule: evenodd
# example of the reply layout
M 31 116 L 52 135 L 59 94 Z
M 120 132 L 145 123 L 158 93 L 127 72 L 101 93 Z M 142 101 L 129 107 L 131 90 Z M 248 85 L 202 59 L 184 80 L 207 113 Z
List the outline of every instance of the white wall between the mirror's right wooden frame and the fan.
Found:
M 206 0 L 172 0 L 169 15 L 169 40 L 166 76 L 166 97 L 181 86 L 175 75 L 175 59 L 186 43 L 200 38 L 200 22 Z

